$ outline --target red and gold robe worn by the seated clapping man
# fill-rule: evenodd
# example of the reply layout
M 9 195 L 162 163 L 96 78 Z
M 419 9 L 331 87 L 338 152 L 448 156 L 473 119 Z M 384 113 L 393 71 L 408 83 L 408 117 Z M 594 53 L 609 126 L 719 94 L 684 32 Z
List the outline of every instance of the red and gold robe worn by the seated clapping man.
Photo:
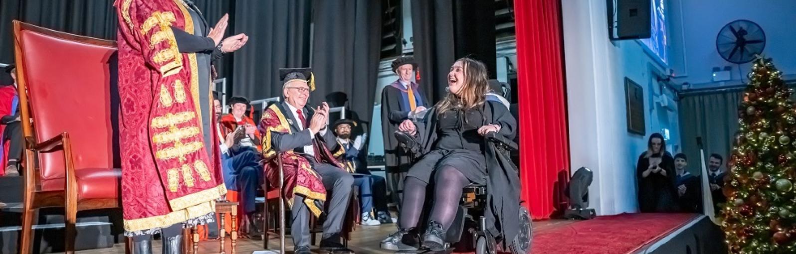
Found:
M 282 110 L 279 110 L 279 106 L 272 104 L 260 117 L 259 128 L 263 129 L 265 177 L 267 177 L 268 183 L 271 183 L 271 187 L 278 187 L 274 183 L 279 183 L 279 164 L 276 160 L 277 152 L 271 147 L 271 132 L 291 134 L 290 123 Z M 316 133 L 316 135 L 318 134 Z M 314 138 L 312 142 L 317 163 L 343 167 L 337 160 L 334 160 L 320 137 Z M 326 188 L 323 187 L 321 176 L 312 168 L 310 162 L 304 156 L 291 150 L 282 152 L 282 167 L 285 177 L 283 195 L 287 199 L 287 204 L 292 207 L 293 197 L 300 194 L 304 197 L 304 203 L 310 208 L 310 212 L 315 216 L 321 215 L 322 202 L 326 201 Z

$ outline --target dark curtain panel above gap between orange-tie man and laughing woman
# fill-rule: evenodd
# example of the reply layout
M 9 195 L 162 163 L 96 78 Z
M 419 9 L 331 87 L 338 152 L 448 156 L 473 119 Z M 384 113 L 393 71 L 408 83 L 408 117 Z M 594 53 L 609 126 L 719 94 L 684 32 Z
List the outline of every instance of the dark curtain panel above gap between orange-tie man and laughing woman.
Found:
M 455 59 L 451 0 L 412 0 L 412 37 L 420 85 L 433 102 L 447 94 L 447 73 Z

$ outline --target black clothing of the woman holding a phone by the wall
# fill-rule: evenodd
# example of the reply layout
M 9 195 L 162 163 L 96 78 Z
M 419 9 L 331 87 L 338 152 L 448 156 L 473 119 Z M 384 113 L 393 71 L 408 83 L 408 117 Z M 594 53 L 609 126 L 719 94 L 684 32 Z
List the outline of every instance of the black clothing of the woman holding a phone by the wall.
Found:
M 638 179 L 638 208 L 642 213 L 674 212 L 679 210 L 676 197 L 677 189 L 674 187 L 674 159 L 669 152 L 661 158 L 659 167 L 666 171 L 666 176 L 650 173 L 642 177 L 642 173 L 650 166 L 650 160 L 642 152 L 638 156 L 636 177 Z

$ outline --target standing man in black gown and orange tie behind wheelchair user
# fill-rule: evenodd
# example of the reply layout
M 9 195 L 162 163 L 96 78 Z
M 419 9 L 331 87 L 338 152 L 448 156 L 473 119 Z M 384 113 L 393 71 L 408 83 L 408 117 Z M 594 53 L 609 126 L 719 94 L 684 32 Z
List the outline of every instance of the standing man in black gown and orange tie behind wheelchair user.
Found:
M 408 154 L 399 148 L 395 133 L 398 125 L 406 119 L 422 115 L 427 107 L 433 105 L 427 100 L 415 83 L 417 62 L 412 56 L 401 56 L 392 61 L 392 72 L 398 80 L 381 91 L 381 129 L 384 137 L 384 166 L 387 181 L 392 186 L 394 202 L 400 199 L 397 192 L 402 191 L 405 173 L 411 166 Z

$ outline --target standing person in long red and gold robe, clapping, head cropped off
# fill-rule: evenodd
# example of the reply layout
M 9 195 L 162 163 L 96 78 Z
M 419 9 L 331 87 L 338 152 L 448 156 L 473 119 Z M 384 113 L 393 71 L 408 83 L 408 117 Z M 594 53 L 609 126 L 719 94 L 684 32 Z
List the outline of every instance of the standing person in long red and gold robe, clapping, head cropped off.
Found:
M 211 28 L 190 0 L 117 0 L 119 121 L 125 234 L 134 253 L 181 252 L 181 231 L 213 221 L 226 193 L 211 96 L 213 59 L 248 37 L 222 40 L 228 16 Z

